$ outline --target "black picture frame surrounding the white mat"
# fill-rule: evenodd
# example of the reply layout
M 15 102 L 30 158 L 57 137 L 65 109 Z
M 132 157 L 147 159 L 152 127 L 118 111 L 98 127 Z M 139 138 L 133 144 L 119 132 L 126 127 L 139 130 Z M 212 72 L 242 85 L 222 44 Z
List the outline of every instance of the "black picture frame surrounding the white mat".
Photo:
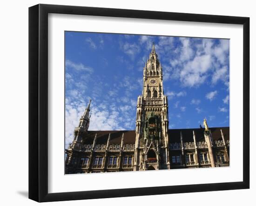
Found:
M 48 193 L 48 14 L 80 14 L 243 25 L 243 181 Z M 249 18 L 39 4 L 29 8 L 29 199 L 38 202 L 249 188 Z

